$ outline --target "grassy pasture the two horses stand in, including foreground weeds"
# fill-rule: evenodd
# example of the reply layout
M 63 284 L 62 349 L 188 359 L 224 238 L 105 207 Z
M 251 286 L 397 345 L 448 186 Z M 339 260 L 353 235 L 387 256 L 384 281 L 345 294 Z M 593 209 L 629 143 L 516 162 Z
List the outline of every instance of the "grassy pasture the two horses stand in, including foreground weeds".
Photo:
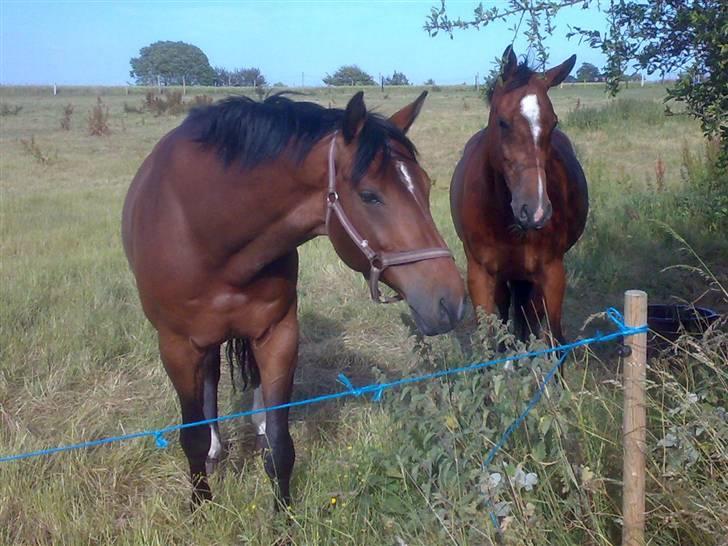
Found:
M 368 88 L 365 100 L 389 114 L 421 89 Z M 336 107 L 354 91 L 306 90 Z M 0 88 L 0 102 L 22 107 L 0 117 L 0 456 L 179 421 L 119 234 L 136 169 L 182 120 L 143 111 L 145 92 L 61 88 L 53 97 L 47 88 Z M 240 90 L 189 88 L 187 100 L 228 92 Z M 97 96 L 109 109 L 103 137 L 88 134 Z M 658 85 L 616 101 L 600 86 L 551 92 L 590 185 L 586 231 L 567 259 L 569 338 L 607 330 L 594 313 L 621 307 L 629 288 L 654 302 L 728 310 L 728 179 L 694 121 L 663 115 L 663 96 Z M 67 104 L 74 111 L 63 130 Z M 448 188 L 486 120 L 472 87 L 436 88 L 410 133 L 434 183 L 433 216 L 463 274 Z M 456 334 L 422 340 L 403 305 L 369 301 L 365 282 L 325 238 L 300 254 L 296 398 L 340 389 L 339 372 L 363 384 L 493 354 L 488 323 L 473 331 L 472 312 Z M 650 543 L 726 544 L 725 323 L 653 356 Z M 549 391 L 491 468 L 480 467 L 545 364 L 389 392 L 381 404 L 347 399 L 294 411 L 289 520 L 271 515 L 247 421 L 222 425 L 228 453 L 211 481 L 215 500 L 192 515 L 173 437 L 165 450 L 139 440 L 3 463 L 0 544 L 272 544 L 284 535 L 298 545 L 490 544 L 486 495 L 507 544 L 613 544 L 621 506 L 613 348 L 578 353 L 566 385 Z M 250 406 L 250 393 L 233 391 L 229 377 L 220 389 L 221 414 Z

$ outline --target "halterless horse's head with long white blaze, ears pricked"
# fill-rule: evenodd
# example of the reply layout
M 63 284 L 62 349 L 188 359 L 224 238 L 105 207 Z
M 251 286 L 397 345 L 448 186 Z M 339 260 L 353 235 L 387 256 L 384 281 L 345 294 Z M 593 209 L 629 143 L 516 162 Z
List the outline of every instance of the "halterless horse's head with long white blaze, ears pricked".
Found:
M 493 159 L 511 192 L 513 216 L 525 229 L 541 229 L 551 218 L 545 169 L 557 118 L 548 90 L 569 75 L 575 62 L 572 55 L 541 74 L 526 63 L 519 65 L 511 46 L 503 53 L 501 77 L 490 98 L 488 134 L 495 139 Z

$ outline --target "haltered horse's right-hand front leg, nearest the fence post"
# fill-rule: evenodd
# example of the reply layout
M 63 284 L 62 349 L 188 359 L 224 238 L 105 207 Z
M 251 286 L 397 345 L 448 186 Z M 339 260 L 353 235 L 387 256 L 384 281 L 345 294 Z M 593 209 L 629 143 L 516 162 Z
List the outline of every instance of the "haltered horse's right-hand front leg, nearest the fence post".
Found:
M 260 369 L 260 385 L 266 407 L 286 404 L 291 400 L 293 374 L 298 353 L 298 319 L 296 302 L 285 317 L 252 343 Z M 296 459 L 293 440 L 288 432 L 288 409 L 265 414 L 266 449 L 263 450 L 265 470 L 276 490 L 276 507 L 291 501 L 290 480 Z

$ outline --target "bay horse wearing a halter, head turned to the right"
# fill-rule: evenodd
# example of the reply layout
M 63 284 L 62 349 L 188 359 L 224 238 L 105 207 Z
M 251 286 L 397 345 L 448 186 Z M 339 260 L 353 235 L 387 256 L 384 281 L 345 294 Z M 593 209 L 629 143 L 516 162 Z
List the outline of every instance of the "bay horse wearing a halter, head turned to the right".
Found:
M 426 93 L 389 119 L 363 93 L 345 110 L 275 95 L 193 110 L 144 160 L 122 238 L 184 423 L 217 417 L 220 347 L 255 387 L 254 407 L 291 399 L 298 352 L 297 247 L 328 235 L 341 259 L 406 300 L 427 335 L 462 316 L 464 286 L 430 214 L 430 180 L 406 132 Z M 279 503 L 294 463 L 288 410 L 259 413 L 256 444 Z M 180 431 L 193 504 L 222 446 L 216 424 Z

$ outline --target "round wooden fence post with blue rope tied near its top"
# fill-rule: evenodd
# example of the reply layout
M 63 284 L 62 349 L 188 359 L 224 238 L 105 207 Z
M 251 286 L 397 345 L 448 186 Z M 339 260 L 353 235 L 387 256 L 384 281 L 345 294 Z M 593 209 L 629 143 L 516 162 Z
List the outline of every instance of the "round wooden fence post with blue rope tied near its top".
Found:
M 624 293 L 624 323 L 628 327 L 647 323 L 647 294 L 641 290 Z M 624 466 L 622 470 L 623 546 L 645 543 L 645 369 L 647 334 L 627 336 L 629 349 L 624 359 Z

